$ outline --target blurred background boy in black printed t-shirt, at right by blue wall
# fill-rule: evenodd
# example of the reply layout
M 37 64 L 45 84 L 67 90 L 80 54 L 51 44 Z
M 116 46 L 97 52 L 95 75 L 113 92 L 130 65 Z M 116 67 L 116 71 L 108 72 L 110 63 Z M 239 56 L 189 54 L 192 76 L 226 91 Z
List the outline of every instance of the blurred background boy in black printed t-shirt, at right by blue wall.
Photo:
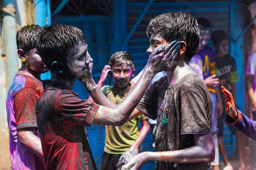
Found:
M 236 61 L 233 57 L 231 57 L 229 52 L 229 37 L 224 30 L 217 30 L 212 33 L 212 42 L 216 48 L 216 75 L 219 78 L 220 85 L 218 86 L 218 90 L 222 91 L 221 86 L 226 87 L 229 91 L 232 92 L 234 97 L 234 101 L 236 103 L 236 81 L 238 81 L 238 72 L 236 69 Z M 223 111 L 225 112 L 225 96 L 221 95 Z M 225 146 L 223 143 L 223 130 L 224 130 L 224 119 L 226 119 L 226 114 L 222 114 L 218 117 L 218 143 L 219 143 L 219 151 L 224 160 L 226 166 L 231 168 L 231 164 L 227 158 Z M 228 127 L 230 131 L 236 134 L 237 138 L 237 146 L 240 155 L 240 170 L 245 169 L 244 165 L 244 139 L 242 137 L 242 133 L 238 130 L 238 128 L 229 125 Z

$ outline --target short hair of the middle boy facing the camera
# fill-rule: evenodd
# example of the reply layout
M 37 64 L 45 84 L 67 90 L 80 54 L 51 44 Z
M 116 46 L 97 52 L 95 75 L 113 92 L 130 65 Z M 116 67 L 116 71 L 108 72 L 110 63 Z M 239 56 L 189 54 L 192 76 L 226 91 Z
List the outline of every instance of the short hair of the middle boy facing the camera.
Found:
M 114 53 L 109 59 L 109 65 L 111 68 L 113 66 L 131 66 L 131 69 L 134 69 L 133 57 L 125 51 L 118 51 Z

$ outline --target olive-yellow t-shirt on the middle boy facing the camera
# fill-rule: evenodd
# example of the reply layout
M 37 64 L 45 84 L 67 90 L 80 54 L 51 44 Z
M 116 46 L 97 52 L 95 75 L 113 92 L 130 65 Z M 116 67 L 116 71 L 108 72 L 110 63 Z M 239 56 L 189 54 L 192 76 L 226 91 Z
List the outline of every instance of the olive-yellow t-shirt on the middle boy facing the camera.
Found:
M 113 85 L 103 86 L 101 91 L 115 105 L 118 105 L 125 96 L 131 91 L 133 85 L 130 86 L 129 92 L 125 95 L 113 93 Z M 147 120 L 148 117 L 141 115 L 121 127 L 106 125 L 106 138 L 104 152 L 109 154 L 123 154 L 135 142 L 139 135 L 139 120 Z M 141 148 L 139 148 L 141 150 Z

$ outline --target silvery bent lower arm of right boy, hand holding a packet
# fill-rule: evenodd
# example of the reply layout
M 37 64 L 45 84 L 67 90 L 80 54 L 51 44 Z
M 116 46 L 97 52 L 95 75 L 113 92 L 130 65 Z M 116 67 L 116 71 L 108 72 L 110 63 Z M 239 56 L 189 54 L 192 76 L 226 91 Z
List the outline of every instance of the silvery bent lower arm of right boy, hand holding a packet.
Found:
M 194 134 L 196 146 L 182 150 L 166 152 L 142 152 L 131 159 L 122 170 L 140 170 L 149 161 L 165 161 L 177 163 L 208 163 L 214 161 L 215 148 L 212 134 Z

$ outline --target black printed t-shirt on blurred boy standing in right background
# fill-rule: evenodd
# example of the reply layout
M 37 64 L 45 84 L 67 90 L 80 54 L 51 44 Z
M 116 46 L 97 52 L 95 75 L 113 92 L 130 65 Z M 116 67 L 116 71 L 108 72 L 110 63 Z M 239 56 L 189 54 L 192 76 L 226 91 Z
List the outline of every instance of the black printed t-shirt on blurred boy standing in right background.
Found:
M 223 85 L 229 91 L 232 90 L 231 83 L 238 81 L 238 71 L 236 69 L 236 61 L 230 55 L 217 57 L 216 59 L 216 75 L 219 78 L 220 85 L 218 86 L 221 92 Z M 221 94 L 222 103 L 225 103 L 225 96 Z M 224 105 L 225 106 L 225 105 Z

